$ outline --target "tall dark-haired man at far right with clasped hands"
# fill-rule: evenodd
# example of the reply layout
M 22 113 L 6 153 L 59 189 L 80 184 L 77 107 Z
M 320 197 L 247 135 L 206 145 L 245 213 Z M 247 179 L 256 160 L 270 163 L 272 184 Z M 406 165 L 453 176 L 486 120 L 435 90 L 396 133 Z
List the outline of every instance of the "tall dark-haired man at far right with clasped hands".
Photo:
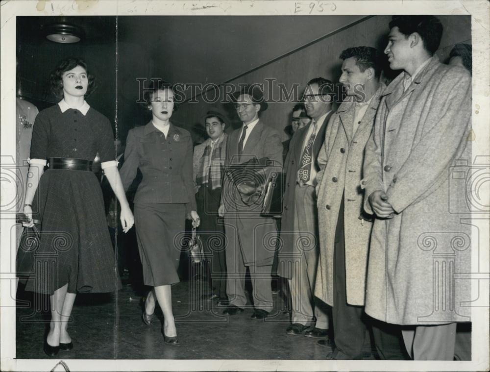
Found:
M 450 167 L 471 164 L 471 77 L 434 56 L 436 17 L 395 16 L 390 29 L 385 53 L 403 72 L 382 93 L 366 148 L 364 209 L 376 219 L 365 309 L 402 326 L 412 358 L 452 360 L 456 322 L 469 321 L 459 304 L 470 300 L 469 280 L 452 275 L 470 270 L 470 230 L 453 213 L 465 191 Z

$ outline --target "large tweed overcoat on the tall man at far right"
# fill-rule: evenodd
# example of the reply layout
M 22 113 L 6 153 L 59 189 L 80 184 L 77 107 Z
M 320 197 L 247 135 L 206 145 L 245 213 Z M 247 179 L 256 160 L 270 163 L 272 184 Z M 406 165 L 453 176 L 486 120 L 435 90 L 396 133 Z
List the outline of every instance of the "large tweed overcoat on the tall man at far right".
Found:
M 434 56 L 406 91 L 403 78 L 383 92 L 366 146 L 366 196 L 385 191 L 395 211 L 373 223 L 366 313 L 394 324 L 468 321 L 471 280 L 453 280 L 452 273 L 471 270 L 469 210 L 458 208 L 473 198 L 465 189 L 471 76 Z M 371 211 L 368 200 L 365 209 Z

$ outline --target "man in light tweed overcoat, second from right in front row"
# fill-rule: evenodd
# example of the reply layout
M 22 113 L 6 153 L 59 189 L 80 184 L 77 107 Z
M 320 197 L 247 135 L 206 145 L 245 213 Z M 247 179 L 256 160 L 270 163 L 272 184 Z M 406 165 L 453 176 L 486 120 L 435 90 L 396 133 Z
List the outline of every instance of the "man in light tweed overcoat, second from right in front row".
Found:
M 346 98 L 332 116 L 319 152 L 318 210 L 320 257 L 315 294 L 331 305 L 335 349 L 331 359 L 361 359 L 369 348 L 364 316 L 366 271 L 372 215 L 363 211 L 362 178 L 364 148 L 371 135 L 381 88 L 377 51 L 371 47 L 344 50 L 340 58 Z M 375 339 L 381 337 L 377 328 Z M 384 340 L 387 344 L 387 337 Z M 400 350 L 400 337 L 394 338 Z M 320 343 L 324 343 L 321 340 Z M 392 347 L 379 347 L 382 359 Z

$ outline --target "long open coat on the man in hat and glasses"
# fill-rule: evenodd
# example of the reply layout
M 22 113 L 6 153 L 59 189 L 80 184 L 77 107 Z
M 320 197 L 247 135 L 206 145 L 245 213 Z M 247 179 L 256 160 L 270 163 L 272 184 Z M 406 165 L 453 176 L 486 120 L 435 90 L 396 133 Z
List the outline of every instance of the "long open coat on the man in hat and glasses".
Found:
M 246 265 L 271 265 L 274 257 L 277 229 L 273 218 L 260 215 L 265 193 L 261 198 L 246 205 L 232 178 L 233 168 L 252 158 L 268 157 L 270 165 L 265 167 L 261 177 L 269 179 L 282 169 L 282 144 L 280 133 L 265 125 L 261 120 L 255 125 L 245 143 L 242 156 L 238 156 L 238 142 L 242 128 L 228 136 L 226 144 L 225 175 L 221 190 L 221 203 L 225 207 L 225 231 L 228 239 L 226 247 L 227 265 L 235 262 L 233 257 L 242 254 Z M 236 268 L 228 267 L 232 272 Z

